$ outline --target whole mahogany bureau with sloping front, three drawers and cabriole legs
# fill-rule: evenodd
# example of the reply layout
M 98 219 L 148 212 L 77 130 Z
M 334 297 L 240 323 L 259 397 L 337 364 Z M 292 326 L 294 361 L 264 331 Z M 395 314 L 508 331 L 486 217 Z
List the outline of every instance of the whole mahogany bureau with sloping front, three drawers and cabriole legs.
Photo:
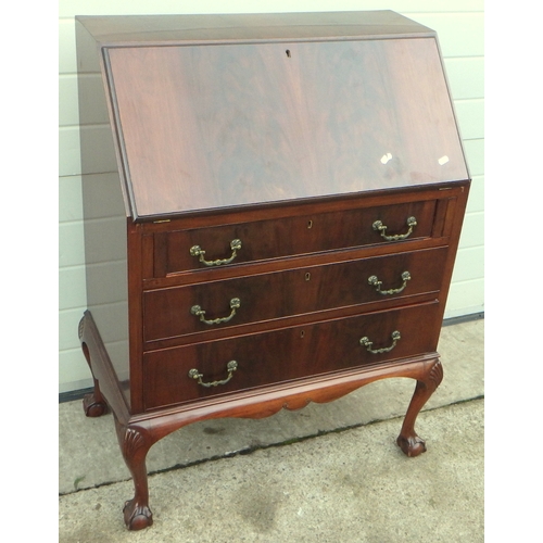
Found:
M 146 455 L 437 353 L 469 189 L 435 33 L 390 11 L 76 20 L 93 393 L 152 522 Z M 96 128 L 109 125 L 108 136 Z

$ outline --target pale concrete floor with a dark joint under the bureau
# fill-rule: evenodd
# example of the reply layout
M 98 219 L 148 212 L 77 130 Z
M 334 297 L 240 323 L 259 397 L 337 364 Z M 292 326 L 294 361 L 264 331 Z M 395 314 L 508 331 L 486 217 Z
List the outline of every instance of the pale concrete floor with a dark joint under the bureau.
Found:
M 134 495 L 111 415 L 59 406 L 61 543 L 482 542 L 484 320 L 445 326 L 444 379 L 417 419 L 428 451 L 395 445 L 414 381 L 378 381 L 261 420 L 182 428 L 148 454 L 154 523 Z

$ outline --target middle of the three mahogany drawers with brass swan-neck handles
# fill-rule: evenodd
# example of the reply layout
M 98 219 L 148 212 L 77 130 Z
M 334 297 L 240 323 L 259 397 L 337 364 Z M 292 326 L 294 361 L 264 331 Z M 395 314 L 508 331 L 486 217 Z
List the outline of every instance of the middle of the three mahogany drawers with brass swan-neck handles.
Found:
M 148 291 L 144 341 L 437 292 L 446 253 L 409 251 Z

